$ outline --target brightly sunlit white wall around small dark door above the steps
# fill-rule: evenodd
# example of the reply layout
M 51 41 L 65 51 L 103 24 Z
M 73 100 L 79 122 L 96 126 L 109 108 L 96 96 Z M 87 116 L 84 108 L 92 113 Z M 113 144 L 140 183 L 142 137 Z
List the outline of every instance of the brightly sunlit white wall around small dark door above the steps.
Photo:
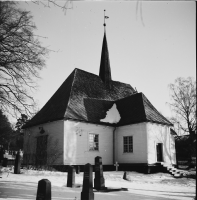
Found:
M 156 144 L 163 143 L 163 161 L 176 164 L 176 151 L 174 137 L 170 134 L 170 127 L 147 123 L 148 133 L 148 163 L 157 162 Z

